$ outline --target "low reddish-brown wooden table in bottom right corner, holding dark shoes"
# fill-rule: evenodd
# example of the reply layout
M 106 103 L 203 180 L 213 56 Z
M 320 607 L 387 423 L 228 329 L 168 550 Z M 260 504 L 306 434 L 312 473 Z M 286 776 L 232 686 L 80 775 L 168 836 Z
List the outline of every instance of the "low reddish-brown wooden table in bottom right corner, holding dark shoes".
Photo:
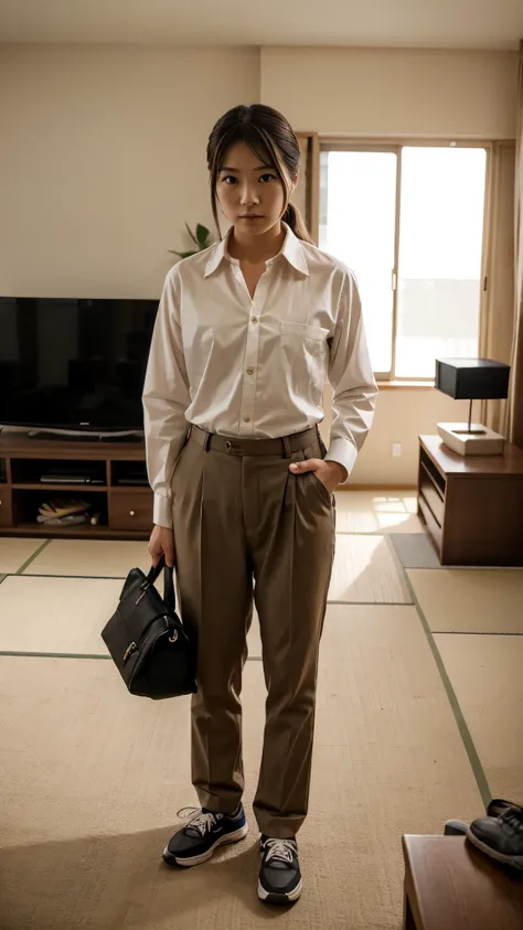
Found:
M 465 836 L 404 836 L 404 930 L 522 930 L 523 873 Z

